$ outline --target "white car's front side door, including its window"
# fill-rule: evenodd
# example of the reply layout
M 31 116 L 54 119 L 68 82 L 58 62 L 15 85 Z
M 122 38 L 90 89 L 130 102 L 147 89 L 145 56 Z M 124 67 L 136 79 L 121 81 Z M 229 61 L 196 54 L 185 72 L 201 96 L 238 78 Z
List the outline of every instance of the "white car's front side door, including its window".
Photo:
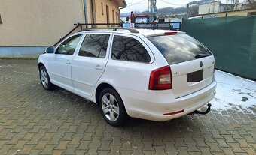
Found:
M 74 91 L 71 79 L 71 65 L 82 35 L 73 35 L 63 41 L 49 61 L 50 80 L 62 88 Z

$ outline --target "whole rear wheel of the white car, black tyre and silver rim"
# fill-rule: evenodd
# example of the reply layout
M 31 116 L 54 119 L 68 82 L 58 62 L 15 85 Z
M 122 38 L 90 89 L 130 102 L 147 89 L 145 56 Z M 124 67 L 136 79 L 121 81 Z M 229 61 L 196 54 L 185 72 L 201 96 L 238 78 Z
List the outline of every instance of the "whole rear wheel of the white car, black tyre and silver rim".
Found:
M 103 118 L 111 126 L 119 127 L 128 118 L 121 97 L 112 88 L 105 88 L 101 91 L 98 103 Z

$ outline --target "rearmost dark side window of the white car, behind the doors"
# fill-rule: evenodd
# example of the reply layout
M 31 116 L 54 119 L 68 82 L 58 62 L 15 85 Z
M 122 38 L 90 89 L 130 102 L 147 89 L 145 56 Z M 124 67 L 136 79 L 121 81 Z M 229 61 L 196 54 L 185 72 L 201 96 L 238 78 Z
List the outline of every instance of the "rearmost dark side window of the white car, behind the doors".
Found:
M 113 60 L 142 63 L 149 63 L 151 61 L 151 57 L 142 43 L 139 43 L 138 40 L 132 37 L 117 35 L 114 36 L 111 58 Z

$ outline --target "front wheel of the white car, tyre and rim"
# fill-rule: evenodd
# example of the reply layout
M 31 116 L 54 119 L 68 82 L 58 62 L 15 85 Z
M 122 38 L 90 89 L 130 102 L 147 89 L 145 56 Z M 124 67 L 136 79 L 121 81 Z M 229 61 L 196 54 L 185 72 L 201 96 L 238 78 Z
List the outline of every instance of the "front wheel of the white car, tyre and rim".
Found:
M 44 89 L 48 91 L 53 90 L 54 85 L 50 82 L 50 76 L 44 66 L 41 66 L 39 69 L 39 77 Z

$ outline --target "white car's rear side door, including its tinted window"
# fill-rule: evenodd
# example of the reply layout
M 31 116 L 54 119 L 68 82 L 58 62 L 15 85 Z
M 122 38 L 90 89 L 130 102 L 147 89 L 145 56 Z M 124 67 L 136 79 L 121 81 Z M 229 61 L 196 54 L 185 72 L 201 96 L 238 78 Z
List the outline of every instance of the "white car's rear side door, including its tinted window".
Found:
M 86 34 L 78 55 L 72 62 L 72 82 L 75 92 L 91 97 L 96 82 L 108 62 L 109 39 L 111 34 Z

